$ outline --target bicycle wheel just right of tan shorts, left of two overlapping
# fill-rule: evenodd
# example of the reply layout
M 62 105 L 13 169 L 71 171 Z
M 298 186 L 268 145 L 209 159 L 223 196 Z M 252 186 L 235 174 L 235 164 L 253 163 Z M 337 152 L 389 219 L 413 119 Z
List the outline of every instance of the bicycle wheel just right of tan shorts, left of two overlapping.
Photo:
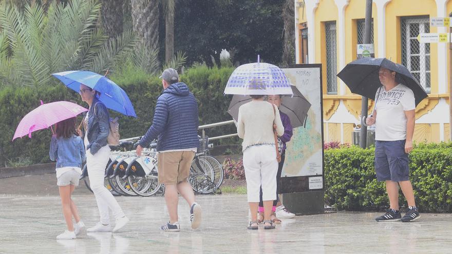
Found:
M 214 176 L 212 165 L 203 157 L 195 157 L 187 181 L 194 191 L 208 194 L 215 190 L 215 184 L 212 181 Z

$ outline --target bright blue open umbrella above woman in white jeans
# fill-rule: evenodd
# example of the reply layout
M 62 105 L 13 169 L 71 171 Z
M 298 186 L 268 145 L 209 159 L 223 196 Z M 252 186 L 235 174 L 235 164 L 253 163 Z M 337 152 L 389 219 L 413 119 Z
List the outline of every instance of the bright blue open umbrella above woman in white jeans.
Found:
M 88 86 L 101 93 L 99 100 L 107 108 L 137 117 L 134 106 L 124 90 L 105 76 L 91 71 L 63 71 L 52 75 L 76 92 L 79 91 L 80 84 Z

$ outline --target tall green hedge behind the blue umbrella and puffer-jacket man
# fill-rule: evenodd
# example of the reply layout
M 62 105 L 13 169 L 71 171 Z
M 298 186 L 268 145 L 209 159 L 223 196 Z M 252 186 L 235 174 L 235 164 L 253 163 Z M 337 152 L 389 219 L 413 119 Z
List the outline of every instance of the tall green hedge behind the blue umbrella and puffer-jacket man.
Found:
M 223 95 L 223 90 L 233 70 L 200 65 L 186 70 L 181 75 L 181 81 L 189 85 L 198 100 L 201 125 L 232 119 L 227 113 L 231 97 Z M 157 75 L 149 76 L 131 68 L 113 74 L 111 79 L 126 91 L 138 116 L 137 119 L 130 118 L 110 110 L 111 116 L 120 117 L 121 138 L 143 135 L 152 124 L 156 100 L 163 89 L 161 80 Z M 3 139 L 0 141 L 0 167 L 49 162 L 50 130 L 35 131 L 32 133 L 32 139 L 25 136 L 11 142 L 20 120 L 39 106 L 40 100 L 44 103 L 66 100 L 87 106 L 80 100 L 78 93 L 65 88 L 56 80 L 52 84 L 38 88 L 7 87 L 1 90 L 0 133 Z M 206 134 L 215 136 L 235 133 L 234 131 L 235 126 L 229 125 L 206 130 Z M 236 142 L 236 139 L 228 141 Z

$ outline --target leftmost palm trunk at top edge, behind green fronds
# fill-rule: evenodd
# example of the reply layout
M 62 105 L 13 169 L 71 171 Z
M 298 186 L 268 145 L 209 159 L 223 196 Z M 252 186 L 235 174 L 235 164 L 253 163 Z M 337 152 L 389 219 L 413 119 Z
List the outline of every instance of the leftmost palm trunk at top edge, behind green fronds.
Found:
M 123 29 L 122 0 L 102 0 L 102 25 L 110 38 L 117 37 Z

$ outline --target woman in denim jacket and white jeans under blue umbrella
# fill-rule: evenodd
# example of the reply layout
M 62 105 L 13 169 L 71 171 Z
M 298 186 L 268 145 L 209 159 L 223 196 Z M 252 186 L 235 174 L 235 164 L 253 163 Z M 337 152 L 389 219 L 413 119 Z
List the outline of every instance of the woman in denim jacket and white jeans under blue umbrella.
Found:
M 95 194 L 99 208 L 100 222 L 88 228 L 88 232 L 111 231 L 109 209 L 116 218 L 113 232 L 124 227 L 129 219 L 110 191 L 104 186 L 105 165 L 108 163 L 110 147 L 107 144 L 109 133 L 109 114 L 104 103 L 99 101 L 99 92 L 80 84 L 79 90 L 82 101 L 86 102 L 89 110 L 83 119 L 84 143 L 86 148 L 86 164 L 90 187 Z M 79 132 L 82 136 L 82 133 Z

